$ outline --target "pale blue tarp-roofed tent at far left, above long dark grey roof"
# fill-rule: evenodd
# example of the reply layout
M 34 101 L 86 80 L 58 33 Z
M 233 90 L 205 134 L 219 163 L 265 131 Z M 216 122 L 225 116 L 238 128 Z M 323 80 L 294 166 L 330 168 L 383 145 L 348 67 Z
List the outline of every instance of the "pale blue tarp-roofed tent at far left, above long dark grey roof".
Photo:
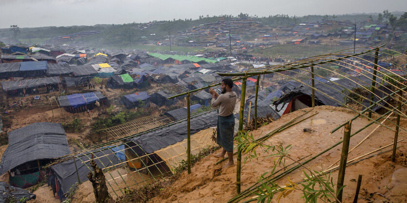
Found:
M 47 61 L 20 62 L 19 77 L 44 76 L 47 72 Z

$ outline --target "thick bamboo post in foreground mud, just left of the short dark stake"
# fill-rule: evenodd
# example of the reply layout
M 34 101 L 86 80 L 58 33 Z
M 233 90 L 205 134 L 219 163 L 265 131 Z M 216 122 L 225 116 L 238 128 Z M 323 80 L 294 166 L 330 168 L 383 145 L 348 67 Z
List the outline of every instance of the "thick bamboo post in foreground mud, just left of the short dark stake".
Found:
M 348 160 L 351 127 L 352 127 L 352 121 L 348 121 L 348 123 L 344 127 L 345 130 L 344 130 L 344 140 L 343 140 L 343 144 L 342 144 L 341 162 L 339 164 L 338 181 L 336 184 L 336 198 L 339 200 L 338 203 L 342 202 L 343 189 L 341 187 L 344 185 L 344 180 L 345 180 L 345 169 L 346 169 L 346 162 Z M 338 191 L 339 189 L 340 189 L 340 191 Z

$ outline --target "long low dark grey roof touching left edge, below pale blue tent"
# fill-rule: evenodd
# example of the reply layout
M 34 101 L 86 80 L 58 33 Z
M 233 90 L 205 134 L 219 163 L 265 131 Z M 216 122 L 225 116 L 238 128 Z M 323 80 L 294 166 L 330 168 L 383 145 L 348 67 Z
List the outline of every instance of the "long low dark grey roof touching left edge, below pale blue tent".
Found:
M 58 85 L 60 83 L 59 77 L 43 77 L 18 81 L 1 82 L 1 87 L 4 92 L 20 90 L 24 88 L 37 88 L 47 85 Z

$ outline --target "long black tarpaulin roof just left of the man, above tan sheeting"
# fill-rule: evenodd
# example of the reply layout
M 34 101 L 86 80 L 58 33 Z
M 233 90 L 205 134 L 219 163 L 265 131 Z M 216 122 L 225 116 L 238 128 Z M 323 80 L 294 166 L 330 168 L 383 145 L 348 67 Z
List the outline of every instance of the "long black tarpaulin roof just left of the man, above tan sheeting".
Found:
M 184 120 L 174 125 L 133 137 L 126 142 L 134 142 L 141 147 L 145 153 L 153 153 L 155 150 L 165 148 L 187 138 L 186 125 L 187 121 Z M 216 110 L 199 114 L 191 118 L 191 135 L 200 130 L 215 127 L 216 125 Z

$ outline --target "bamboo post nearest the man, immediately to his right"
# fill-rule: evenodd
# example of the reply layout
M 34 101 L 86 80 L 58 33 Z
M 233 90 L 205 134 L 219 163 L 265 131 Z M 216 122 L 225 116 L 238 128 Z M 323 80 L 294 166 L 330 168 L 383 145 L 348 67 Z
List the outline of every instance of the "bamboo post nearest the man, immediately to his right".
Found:
M 243 115 L 245 111 L 245 98 L 246 98 L 246 81 L 247 75 L 242 80 L 242 94 L 240 96 L 240 113 L 239 113 L 239 132 L 243 133 Z M 238 135 L 239 136 L 239 135 Z M 236 163 L 236 192 L 240 193 L 240 172 L 241 172 L 242 150 L 237 148 L 237 163 Z

